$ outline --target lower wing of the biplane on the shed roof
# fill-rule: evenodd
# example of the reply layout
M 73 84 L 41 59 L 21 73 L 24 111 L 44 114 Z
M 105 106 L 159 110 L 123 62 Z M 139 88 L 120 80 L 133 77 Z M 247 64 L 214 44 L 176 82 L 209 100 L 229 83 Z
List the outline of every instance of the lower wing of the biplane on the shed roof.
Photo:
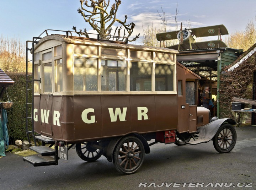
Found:
M 168 48 L 178 50 L 178 45 L 172 45 Z M 191 43 L 192 49 L 209 49 L 209 48 L 225 48 L 228 47 L 222 40 L 211 40 L 207 42 Z M 190 44 L 188 42 L 180 44 L 179 50 L 190 50 Z

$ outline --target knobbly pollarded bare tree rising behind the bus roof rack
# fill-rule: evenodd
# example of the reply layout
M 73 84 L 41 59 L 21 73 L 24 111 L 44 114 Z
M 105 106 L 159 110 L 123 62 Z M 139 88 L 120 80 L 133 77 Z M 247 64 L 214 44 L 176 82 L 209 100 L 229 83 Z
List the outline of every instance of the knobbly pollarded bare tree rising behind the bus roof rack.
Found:
M 90 2 L 90 3 L 89 3 Z M 119 5 L 121 5 L 121 0 L 115 0 L 115 3 L 110 5 L 110 0 L 106 2 L 106 0 L 80 0 L 81 8 L 78 9 L 78 13 L 84 18 L 85 22 L 89 23 L 89 25 L 101 35 L 102 39 L 110 39 L 115 38 L 115 40 L 123 41 L 123 37 L 130 37 L 133 33 L 133 29 L 135 24 L 133 22 L 126 23 L 127 15 L 124 16 L 124 21 L 121 21 L 117 18 L 117 10 Z M 86 6 L 84 8 L 84 5 Z M 108 12 L 108 7 L 110 7 L 110 11 Z M 90 9 L 90 10 L 89 10 Z M 121 24 L 120 27 L 116 27 L 114 30 L 114 34 L 112 35 L 112 27 L 115 23 Z M 124 27 L 123 34 L 121 34 L 121 29 Z M 76 31 L 76 27 L 72 29 Z M 80 32 L 82 30 L 80 29 Z M 128 33 L 126 36 L 126 32 Z M 77 32 L 79 34 L 79 32 Z M 87 35 L 86 29 L 82 34 Z M 122 35 L 122 36 L 121 36 Z M 79 34 L 80 36 L 80 34 Z M 135 36 L 129 42 L 133 42 L 139 38 L 139 34 Z

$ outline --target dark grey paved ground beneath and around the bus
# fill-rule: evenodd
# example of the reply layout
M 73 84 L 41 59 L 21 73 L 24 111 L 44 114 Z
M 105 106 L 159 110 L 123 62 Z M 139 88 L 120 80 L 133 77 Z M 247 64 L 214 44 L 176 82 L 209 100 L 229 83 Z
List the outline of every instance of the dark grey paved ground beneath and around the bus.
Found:
M 68 161 L 60 159 L 59 165 L 44 167 L 33 167 L 23 162 L 22 156 L 7 153 L 0 158 L 0 189 L 255 190 L 256 126 L 236 128 L 236 131 L 236 146 L 226 154 L 215 151 L 212 141 L 195 146 L 153 145 L 142 167 L 132 175 L 118 173 L 103 156 L 94 163 L 84 162 L 72 149 Z

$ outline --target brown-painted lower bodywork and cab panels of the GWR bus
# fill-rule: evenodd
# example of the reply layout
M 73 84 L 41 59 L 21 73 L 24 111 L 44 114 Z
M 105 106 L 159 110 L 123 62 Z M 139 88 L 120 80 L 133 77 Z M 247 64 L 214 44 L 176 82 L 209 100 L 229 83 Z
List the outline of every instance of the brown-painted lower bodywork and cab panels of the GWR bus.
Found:
M 198 76 L 177 64 L 177 79 L 183 83 L 185 92 L 186 80 L 197 83 Z M 117 114 L 117 108 L 121 111 L 119 113 L 122 113 L 120 115 L 125 114 L 125 117 L 120 120 L 118 115 L 114 121 L 111 121 L 109 109 Z M 126 111 L 123 108 L 126 108 Z M 147 110 L 146 113 L 143 108 Z M 166 130 L 196 132 L 198 126 L 206 125 L 210 119 L 209 111 L 203 109 L 201 115 L 203 114 L 204 121 L 197 125 L 197 105 L 187 104 L 186 94 L 183 96 L 177 96 L 177 94 L 93 96 L 41 94 L 41 96 L 34 96 L 34 109 L 37 109 L 35 115 L 39 118 L 38 121 L 34 121 L 35 131 L 66 142 L 85 142 L 130 133 L 144 134 Z M 83 121 L 82 113 L 86 109 L 94 109 L 93 112 L 87 113 L 86 117 L 95 117 L 95 121 L 91 123 Z M 58 119 L 54 111 L 61 113 Z M 42 119 L 43 114 L 48 114 L 47 121 Z

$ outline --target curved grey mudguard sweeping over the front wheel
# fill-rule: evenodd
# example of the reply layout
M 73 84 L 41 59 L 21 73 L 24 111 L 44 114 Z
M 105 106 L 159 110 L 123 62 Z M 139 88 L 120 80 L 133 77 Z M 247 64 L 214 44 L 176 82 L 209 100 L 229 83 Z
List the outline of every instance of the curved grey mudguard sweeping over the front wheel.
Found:
M 200 132 L 198 134 L 198 139 L 195 141 L 187 142 L 189 145 L 197 145 L 203 142 L 209 142 L 212 140 L 216 132 L 218 131 L 219 127 L 222 126 L 223 123 L 229 123 L 231 125 L 235 125 L 236 122 L 233 119 L 217 119 L 215 121 L 212 121 L 211 123 L 208 123 L 207 125 L 200 128 Z

